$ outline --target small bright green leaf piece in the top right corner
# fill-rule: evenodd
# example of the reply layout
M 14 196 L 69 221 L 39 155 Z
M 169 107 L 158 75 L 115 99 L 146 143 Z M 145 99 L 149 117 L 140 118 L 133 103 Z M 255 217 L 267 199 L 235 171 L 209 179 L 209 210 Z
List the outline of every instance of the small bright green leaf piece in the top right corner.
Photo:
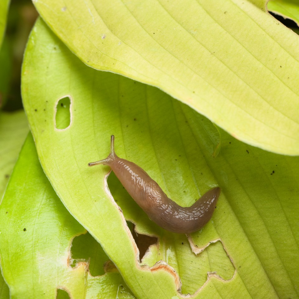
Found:
M 289 18 L 299 25 L 299 3 L 297 0 L 270 0 L 268 9 L 284 18 Z

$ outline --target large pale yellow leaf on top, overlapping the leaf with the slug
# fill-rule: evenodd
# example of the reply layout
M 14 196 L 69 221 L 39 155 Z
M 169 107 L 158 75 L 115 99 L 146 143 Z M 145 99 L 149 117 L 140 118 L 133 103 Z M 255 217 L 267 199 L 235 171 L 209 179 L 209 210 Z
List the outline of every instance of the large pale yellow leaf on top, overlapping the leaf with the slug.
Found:
M 250 145 L 299 154 L 299 38 L 266 1 L 33 2 L 85 64 L 157 86 Z

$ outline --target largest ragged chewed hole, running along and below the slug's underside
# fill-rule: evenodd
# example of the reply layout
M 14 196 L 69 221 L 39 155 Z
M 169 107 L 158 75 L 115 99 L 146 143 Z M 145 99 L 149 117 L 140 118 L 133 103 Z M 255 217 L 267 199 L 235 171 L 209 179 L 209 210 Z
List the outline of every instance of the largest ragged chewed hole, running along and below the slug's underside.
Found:
M 219 276 L 223 281 L 233 278 L 235 267 L 221 242 L 210 244 L 200 254 L 194 254 L 187 236 L 163 230 L 151 221 L 113 172 L 109 175 L 107 183 L 116 204 L 121 207 L 127 219 L 127 225 L 140 251 L 141 265 L 152 267 L 160 260 L 167 263 L 181 279 L 182 294 L 194 294 L 211 276 Z M 136 223 L 136 227 L 141 229 L 143 234 L 134 234 L 135 225 L 131 221 Z M 144 235 L 144 231 L 157 237 L 148 237 Z

